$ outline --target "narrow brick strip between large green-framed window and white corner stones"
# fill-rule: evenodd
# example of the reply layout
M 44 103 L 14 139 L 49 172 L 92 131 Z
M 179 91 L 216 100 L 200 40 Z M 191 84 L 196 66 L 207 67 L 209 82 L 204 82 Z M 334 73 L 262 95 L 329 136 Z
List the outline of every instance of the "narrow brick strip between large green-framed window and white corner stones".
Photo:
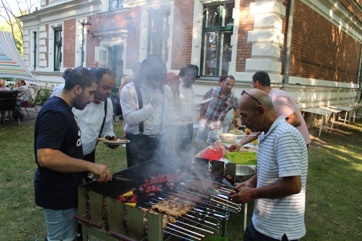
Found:
M 254 29 L 254 17 L 249 16 L 249 5 L 254 0 L 240 1 L 239 31 L 237 36 L 236 72 L 245 72 L 245 60 L 251 58 L 252 44 L 248 44 L 248 31 Z

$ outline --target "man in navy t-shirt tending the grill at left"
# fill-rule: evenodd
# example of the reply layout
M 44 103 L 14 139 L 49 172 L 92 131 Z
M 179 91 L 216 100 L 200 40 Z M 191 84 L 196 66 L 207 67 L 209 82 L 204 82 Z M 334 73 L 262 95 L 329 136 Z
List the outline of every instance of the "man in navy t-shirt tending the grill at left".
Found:
M 75 239 L 77 220 L 72 215 L 78 213 L 83 171 L 99 175 L 100 182 L 112 178 L 105 165 L 83 160 L 79 123 L 72 112 L 72 107 L 81 110 L 93 101 L 96 88 L 92 72 L 73 69 L 63 91 L 44 104 L 35 122 L 35 203 L 43 207 L 48 241 Z

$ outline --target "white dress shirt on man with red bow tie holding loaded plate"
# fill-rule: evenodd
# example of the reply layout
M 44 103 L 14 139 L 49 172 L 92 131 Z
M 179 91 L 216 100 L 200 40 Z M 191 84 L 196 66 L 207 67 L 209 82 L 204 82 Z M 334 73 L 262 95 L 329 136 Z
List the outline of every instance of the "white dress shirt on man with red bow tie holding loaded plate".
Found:
M 83 110 L 72 109 L 73 114 L 77 117 L 81 131 L 81 141 L 84 155 L 89 154 L 96 147 L 99 132 L 101 131 L 104 119 L 104 101 L 100 104 L 90 102 Z M 113 105 L 110 98 L 107 99 L 107 116 L 104 122 L 101 137 L 114 135 L 113 133 Z M 92 138 L 92 139 L 90 139 Z

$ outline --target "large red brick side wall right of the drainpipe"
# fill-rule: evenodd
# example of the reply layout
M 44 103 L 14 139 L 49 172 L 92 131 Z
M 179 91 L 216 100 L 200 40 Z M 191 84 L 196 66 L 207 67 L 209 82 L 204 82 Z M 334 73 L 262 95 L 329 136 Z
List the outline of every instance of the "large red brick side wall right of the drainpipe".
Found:
M 355 39 L 295 1 L 290 76 L 356 83 L 360 53 Z

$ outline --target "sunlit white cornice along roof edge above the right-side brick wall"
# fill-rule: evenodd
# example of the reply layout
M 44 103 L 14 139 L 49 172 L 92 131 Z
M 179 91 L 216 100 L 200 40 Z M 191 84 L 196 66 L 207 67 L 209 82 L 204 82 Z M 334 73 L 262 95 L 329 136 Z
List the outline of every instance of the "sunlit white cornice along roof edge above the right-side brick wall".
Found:
M 362 23 L 346 9 L 341 3 L 334 0 L 300 0 L 320 16 L 327 19 L 333 25 L 362 43 Z

